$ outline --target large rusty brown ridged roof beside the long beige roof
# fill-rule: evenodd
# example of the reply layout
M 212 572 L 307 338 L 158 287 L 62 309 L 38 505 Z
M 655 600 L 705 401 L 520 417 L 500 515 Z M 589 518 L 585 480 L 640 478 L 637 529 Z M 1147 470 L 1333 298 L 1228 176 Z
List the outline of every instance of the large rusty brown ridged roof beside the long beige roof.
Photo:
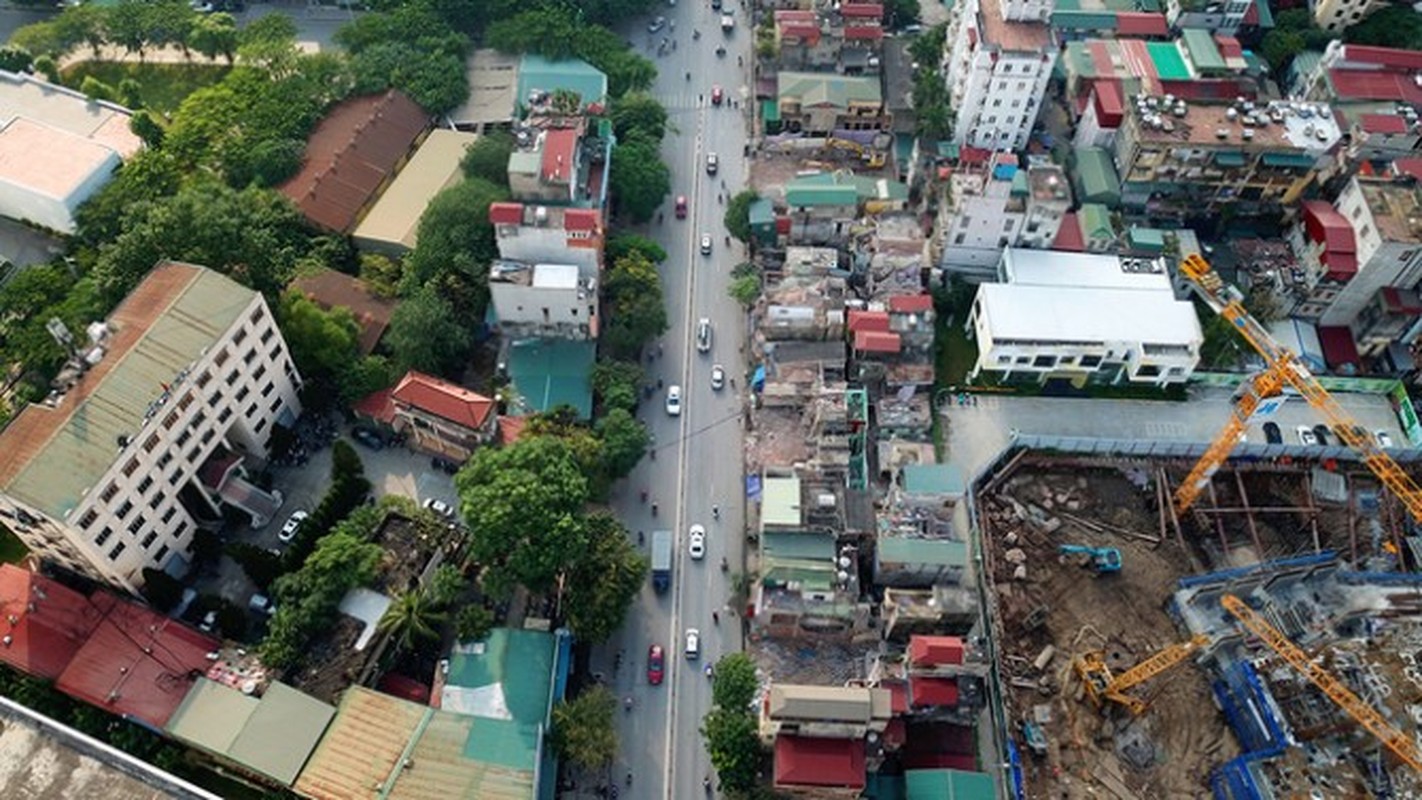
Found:
M 347 99 L 311 131 L 301 171 L 279 190 L 313 225 L 347 233 L 428 128 L 398 91 Z

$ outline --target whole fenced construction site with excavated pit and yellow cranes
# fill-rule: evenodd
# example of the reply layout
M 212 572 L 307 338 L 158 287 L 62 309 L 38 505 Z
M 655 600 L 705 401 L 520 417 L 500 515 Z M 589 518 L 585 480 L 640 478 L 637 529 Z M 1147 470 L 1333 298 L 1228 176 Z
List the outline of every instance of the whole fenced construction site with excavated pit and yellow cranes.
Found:
M 974 492 L 1015 794 L 1422 797 L 1422 489 L 1219 298 L 1268 365 L 1203 455 L 1018 448 Z M 1348 456 L 1240 445 L 1284 389 Z

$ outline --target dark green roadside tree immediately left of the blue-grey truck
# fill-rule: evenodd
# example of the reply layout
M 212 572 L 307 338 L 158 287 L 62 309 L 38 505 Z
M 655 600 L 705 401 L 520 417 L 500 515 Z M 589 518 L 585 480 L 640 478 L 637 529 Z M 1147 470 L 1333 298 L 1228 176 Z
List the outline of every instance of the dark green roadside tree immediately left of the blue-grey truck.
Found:
M 583 550 L 567 570 L 567 628 L 584 642 L 600 642 L 621 627 L 647 581 L 648 561 L 616 517 L 583 519 Z

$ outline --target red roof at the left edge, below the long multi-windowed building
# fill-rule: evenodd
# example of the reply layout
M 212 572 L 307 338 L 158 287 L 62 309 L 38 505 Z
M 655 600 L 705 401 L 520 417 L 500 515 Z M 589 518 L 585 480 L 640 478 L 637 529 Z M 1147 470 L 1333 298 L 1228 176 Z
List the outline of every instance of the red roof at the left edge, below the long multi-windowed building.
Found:
M 54 681 L 84 647 L 100 612 L 67 585 L 16 567 L 0 566 L 0 662 Z

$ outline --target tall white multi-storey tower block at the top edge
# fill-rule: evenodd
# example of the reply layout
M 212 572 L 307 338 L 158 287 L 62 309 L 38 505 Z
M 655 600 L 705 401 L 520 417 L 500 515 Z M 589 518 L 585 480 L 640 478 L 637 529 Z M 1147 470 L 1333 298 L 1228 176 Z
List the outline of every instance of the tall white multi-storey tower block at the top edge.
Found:
M 964 0 L 953 6 L 943 74 L 953 107 L 953 141 L 1021 149 L 1047 94 L 1057 47 L 1048 0 Z

